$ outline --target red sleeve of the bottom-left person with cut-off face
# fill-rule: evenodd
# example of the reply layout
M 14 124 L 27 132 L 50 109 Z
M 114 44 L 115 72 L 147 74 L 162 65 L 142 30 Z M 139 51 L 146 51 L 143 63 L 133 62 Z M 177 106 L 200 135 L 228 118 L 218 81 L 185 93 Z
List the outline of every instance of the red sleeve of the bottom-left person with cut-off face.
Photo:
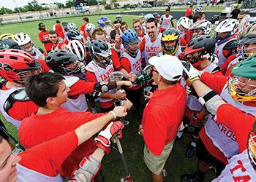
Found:
M 38 173 L 55 177 L 61 164 L 77 146 L 78 137 L 75 130 L 71 130 L 18 154 L 21 157 L 19 164 Z

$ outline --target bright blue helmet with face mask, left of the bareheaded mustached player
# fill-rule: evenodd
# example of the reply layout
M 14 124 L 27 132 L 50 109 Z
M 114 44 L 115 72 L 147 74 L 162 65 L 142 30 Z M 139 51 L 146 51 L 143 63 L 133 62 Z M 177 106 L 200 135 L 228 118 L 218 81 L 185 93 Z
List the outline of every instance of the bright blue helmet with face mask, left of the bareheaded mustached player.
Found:
M 139 43 L 140 39 L 138 39 L 137 33 L 134 30 L 128 29 L 124 31 L 121 35 L 124 48 L 126 48 L 130 54 L 135 55 L 138 53 L 138 47 L 136 49 L 131 49 L 129 44 Z

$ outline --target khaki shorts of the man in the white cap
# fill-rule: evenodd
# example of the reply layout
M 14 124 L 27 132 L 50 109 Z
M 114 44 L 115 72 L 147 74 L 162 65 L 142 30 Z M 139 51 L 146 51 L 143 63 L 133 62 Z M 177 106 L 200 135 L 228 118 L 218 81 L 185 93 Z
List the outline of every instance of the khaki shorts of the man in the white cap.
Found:
M 159 156 L 152 154 L 151 151 L 148 150 L 146 144 L 144 145 L 144 162 L 152 173 L 156 175 L 162 173 L 162 169 L 165 167 L 165 162 L 170 155 L 170 151 L 173 149 L 173 141 L 165 145 L 162 154 Z

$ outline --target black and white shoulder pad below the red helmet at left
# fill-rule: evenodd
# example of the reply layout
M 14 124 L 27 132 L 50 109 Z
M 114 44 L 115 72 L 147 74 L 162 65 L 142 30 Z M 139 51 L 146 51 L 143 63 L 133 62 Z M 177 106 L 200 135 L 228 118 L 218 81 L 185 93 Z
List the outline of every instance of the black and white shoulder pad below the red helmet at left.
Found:
M 4 111 L 8 112 L 9 109 L 12 107 L 13 103 L 15 103 L 16 101 L 26 102 L 26 101 L 29 101 L 29 100 L 30 100 L 30 98 L 26 94 L 26 91 L 25 91 L 24 88 L 20 89 L 20 90 L 16 90 L 5 101 L 5 103 L 4 103 Z

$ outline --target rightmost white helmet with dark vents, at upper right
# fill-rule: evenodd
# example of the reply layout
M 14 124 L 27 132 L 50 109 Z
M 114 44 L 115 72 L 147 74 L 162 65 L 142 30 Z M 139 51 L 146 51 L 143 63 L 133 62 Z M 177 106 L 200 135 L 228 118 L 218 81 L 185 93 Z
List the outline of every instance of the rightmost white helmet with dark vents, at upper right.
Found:
M 215 31 L 217 33 L 224 33 L 224 32 L 230 32 L 230 34 L 234 34 L 236 32 L 236 28 L 238 27 L 238 20 L 233 18 L 227 18 L 223 20 L 219 25 L 217 25 L 217 28 Z

